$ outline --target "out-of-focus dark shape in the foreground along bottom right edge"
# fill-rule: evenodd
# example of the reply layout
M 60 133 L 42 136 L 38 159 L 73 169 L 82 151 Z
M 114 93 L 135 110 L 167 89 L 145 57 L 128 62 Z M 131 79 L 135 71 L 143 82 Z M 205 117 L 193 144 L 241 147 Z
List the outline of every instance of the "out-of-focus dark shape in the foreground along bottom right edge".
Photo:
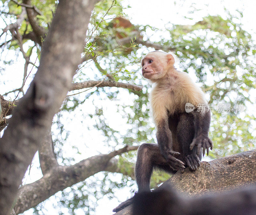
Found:
M 170 185 L 153 192 L 141 192 L 133 197 L 133 215 L 196 214 L 196 215 L 251 215 L 256 213 L 256 187 L 186 197 Z

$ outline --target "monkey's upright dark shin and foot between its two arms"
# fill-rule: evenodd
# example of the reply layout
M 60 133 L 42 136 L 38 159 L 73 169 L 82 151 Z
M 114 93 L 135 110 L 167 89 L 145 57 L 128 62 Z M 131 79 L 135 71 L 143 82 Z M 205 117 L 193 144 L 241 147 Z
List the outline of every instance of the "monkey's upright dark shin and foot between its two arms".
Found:
M 177 139 L 180 144 L 180 160 L 184 161 L 191 170 L 196 170 L 200 166 L 202 152 L 197 153 L 196 147 L 190 150 L 190 144 L 195 136 L 195 119 L 190 113 L 179 115 L 177 126 Z

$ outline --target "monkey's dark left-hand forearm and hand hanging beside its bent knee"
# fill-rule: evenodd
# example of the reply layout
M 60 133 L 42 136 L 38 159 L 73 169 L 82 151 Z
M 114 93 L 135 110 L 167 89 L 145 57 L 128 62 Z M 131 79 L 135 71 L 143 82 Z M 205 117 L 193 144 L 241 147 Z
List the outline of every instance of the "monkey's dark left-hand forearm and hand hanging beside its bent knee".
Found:
M 184 163 L 174 157 L 180 155 L 180 153 L 173 151 L 172 133 L 169 129 L 168 118 L 163 119 L 157 124 L 156 139 L 160 152 L 166 161 L 170 164 L 170 167 L 173 170 L 185 168 Z

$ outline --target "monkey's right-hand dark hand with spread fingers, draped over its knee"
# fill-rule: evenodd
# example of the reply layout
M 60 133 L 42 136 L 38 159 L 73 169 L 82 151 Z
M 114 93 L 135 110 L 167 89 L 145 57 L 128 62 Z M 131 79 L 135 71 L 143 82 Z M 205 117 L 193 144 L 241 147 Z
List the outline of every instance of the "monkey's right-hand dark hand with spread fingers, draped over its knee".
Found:
M 200 134 L 197 137 L 194 137 L 192 143 L 190 144 L 190 150 L 197 146 L 197 153 L 200 154 L 201 148 L 203 148 L 203 156 L 205 154 L 205 149 L 207 155 L 209 154 L 209 148 L 212 150 L 212 140 L 209 139 L 208 135 Z

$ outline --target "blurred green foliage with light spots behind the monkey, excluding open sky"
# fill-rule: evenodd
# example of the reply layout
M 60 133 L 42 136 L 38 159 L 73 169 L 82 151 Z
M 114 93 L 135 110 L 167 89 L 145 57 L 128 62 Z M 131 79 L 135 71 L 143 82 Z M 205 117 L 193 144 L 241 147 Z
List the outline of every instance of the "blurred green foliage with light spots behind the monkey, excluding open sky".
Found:
M 4 6 L 1 8 L 1 17 L 7 24 L 14 22 L 21 12 L 20 6 L 12 1 L 2 1 L 2 3 Z M 32 3 L 42 12 L 42 15 L 37 16 L 38 24 L 47 29 L 56 8 L 55 1 L 35 0 Z M 205 89 L 212 107 L 210 137 L 214 149 L 210 152 L 209 158 L 214 159 L 254 149 L 256 119 L 252 113 L 255 101 L 252 100 L 251 94 L 256 86 L 256 43 L 250 33 L 243 29 L 241 24 L 243 13 L 237 12 L 234 15 L 226 11 L 225 19 L 219 15 L 208 15 L 194 25 L 166 23 L 165 29 L 156 29 L 152 26 L 134 26 L 129 21 L 125 21 L 123 9 L 120 1 L 104 0 L 96 5 L 83 53 L 87 60 L 76 71 L 74 82 L 106 78 L 106 80 L 142 84 L 145 87 L 141 92 L 115 87 L 98 88 L 67 97 L 52 126 L 58 162 L 69 165 L 84 159 L 81 152 L 83 150 L 70 138 L 72 131 L 69 131 L 70 127 L 68 127 L 72 119 L 77 117 L 81 120 L 80 128 L 85 134 L 77 132 L 76 135 L 86 136 L 82 148 L 86 148 L 87 151 L 90 149 L 90 132 L 96 130 L 96 136 L 102 137 L 102 143 L 97 146 L 98 151 L 95 154 L 107 153 L 126 144 L 156 142 L 148 103 L 150 85 L 140 74 L 142 55 L 153 49 L 137 45 L 136 38 L 162 45 L 163 50 L 173 50 L 180 59 L 180 68 L 191 75 L 194 74 Z M 20 33 L 28 33 L 31 30 L 28 21 L 24 20 Z M 159 35 L 158 41 L 152 41 L 147 33 L 149 30 Z M 166 32 L 169 36 L 166 36 Z M 120 41 L 126 37 L 133 39 L 127 44 L 120 45 Z M 27 45 L 31 48 L 35 44 Z M 19 51 L 15 41 L 7 43 L 2 48 Z M 36 45 L 36 48 L 38 53 L 41 47 Z M 13 86 L 13 88 L 17 87 Z M 221 111 L 220 104 L 226 105 L 225 107 L 242 105 L 245 109 L 237 111 L 236 108 L 226 108 Z M 110 115 L 109 113 L 113 111 L 110 112 L 109 109 L 113 109 L 114 112 L 116 110 L 116 114 Z M 113 121 L 120 120 L 123 120 L 123 126 L 113 125 Z M 66 145 L 70 145 L 77 156 L 63 152 Z M 135 152 L 119 156 L 120 172 L 130 173 L 133 177 L 135 157 Z M 129 176 L 123 175 L 115 181 L 113 175 L 115 174 L 99 173 L 57 193 L 55 197 L 60 201 L 56 208 L 59 208 L 59 214 L 62 214 L 63 207 L 68 208 L 70 214 L 75 214 L 78 208 L 83 208 L 86 214 L 94 214 L 97 201 L 104 195 L 113 198 L 115 189 L 134 184 Z M 151 186 L 156 187 L 168 177 L 169 175 L 165 173 L 154 173 Z M 36 214 L 39 213 L 42 205 L 36 206 Z

